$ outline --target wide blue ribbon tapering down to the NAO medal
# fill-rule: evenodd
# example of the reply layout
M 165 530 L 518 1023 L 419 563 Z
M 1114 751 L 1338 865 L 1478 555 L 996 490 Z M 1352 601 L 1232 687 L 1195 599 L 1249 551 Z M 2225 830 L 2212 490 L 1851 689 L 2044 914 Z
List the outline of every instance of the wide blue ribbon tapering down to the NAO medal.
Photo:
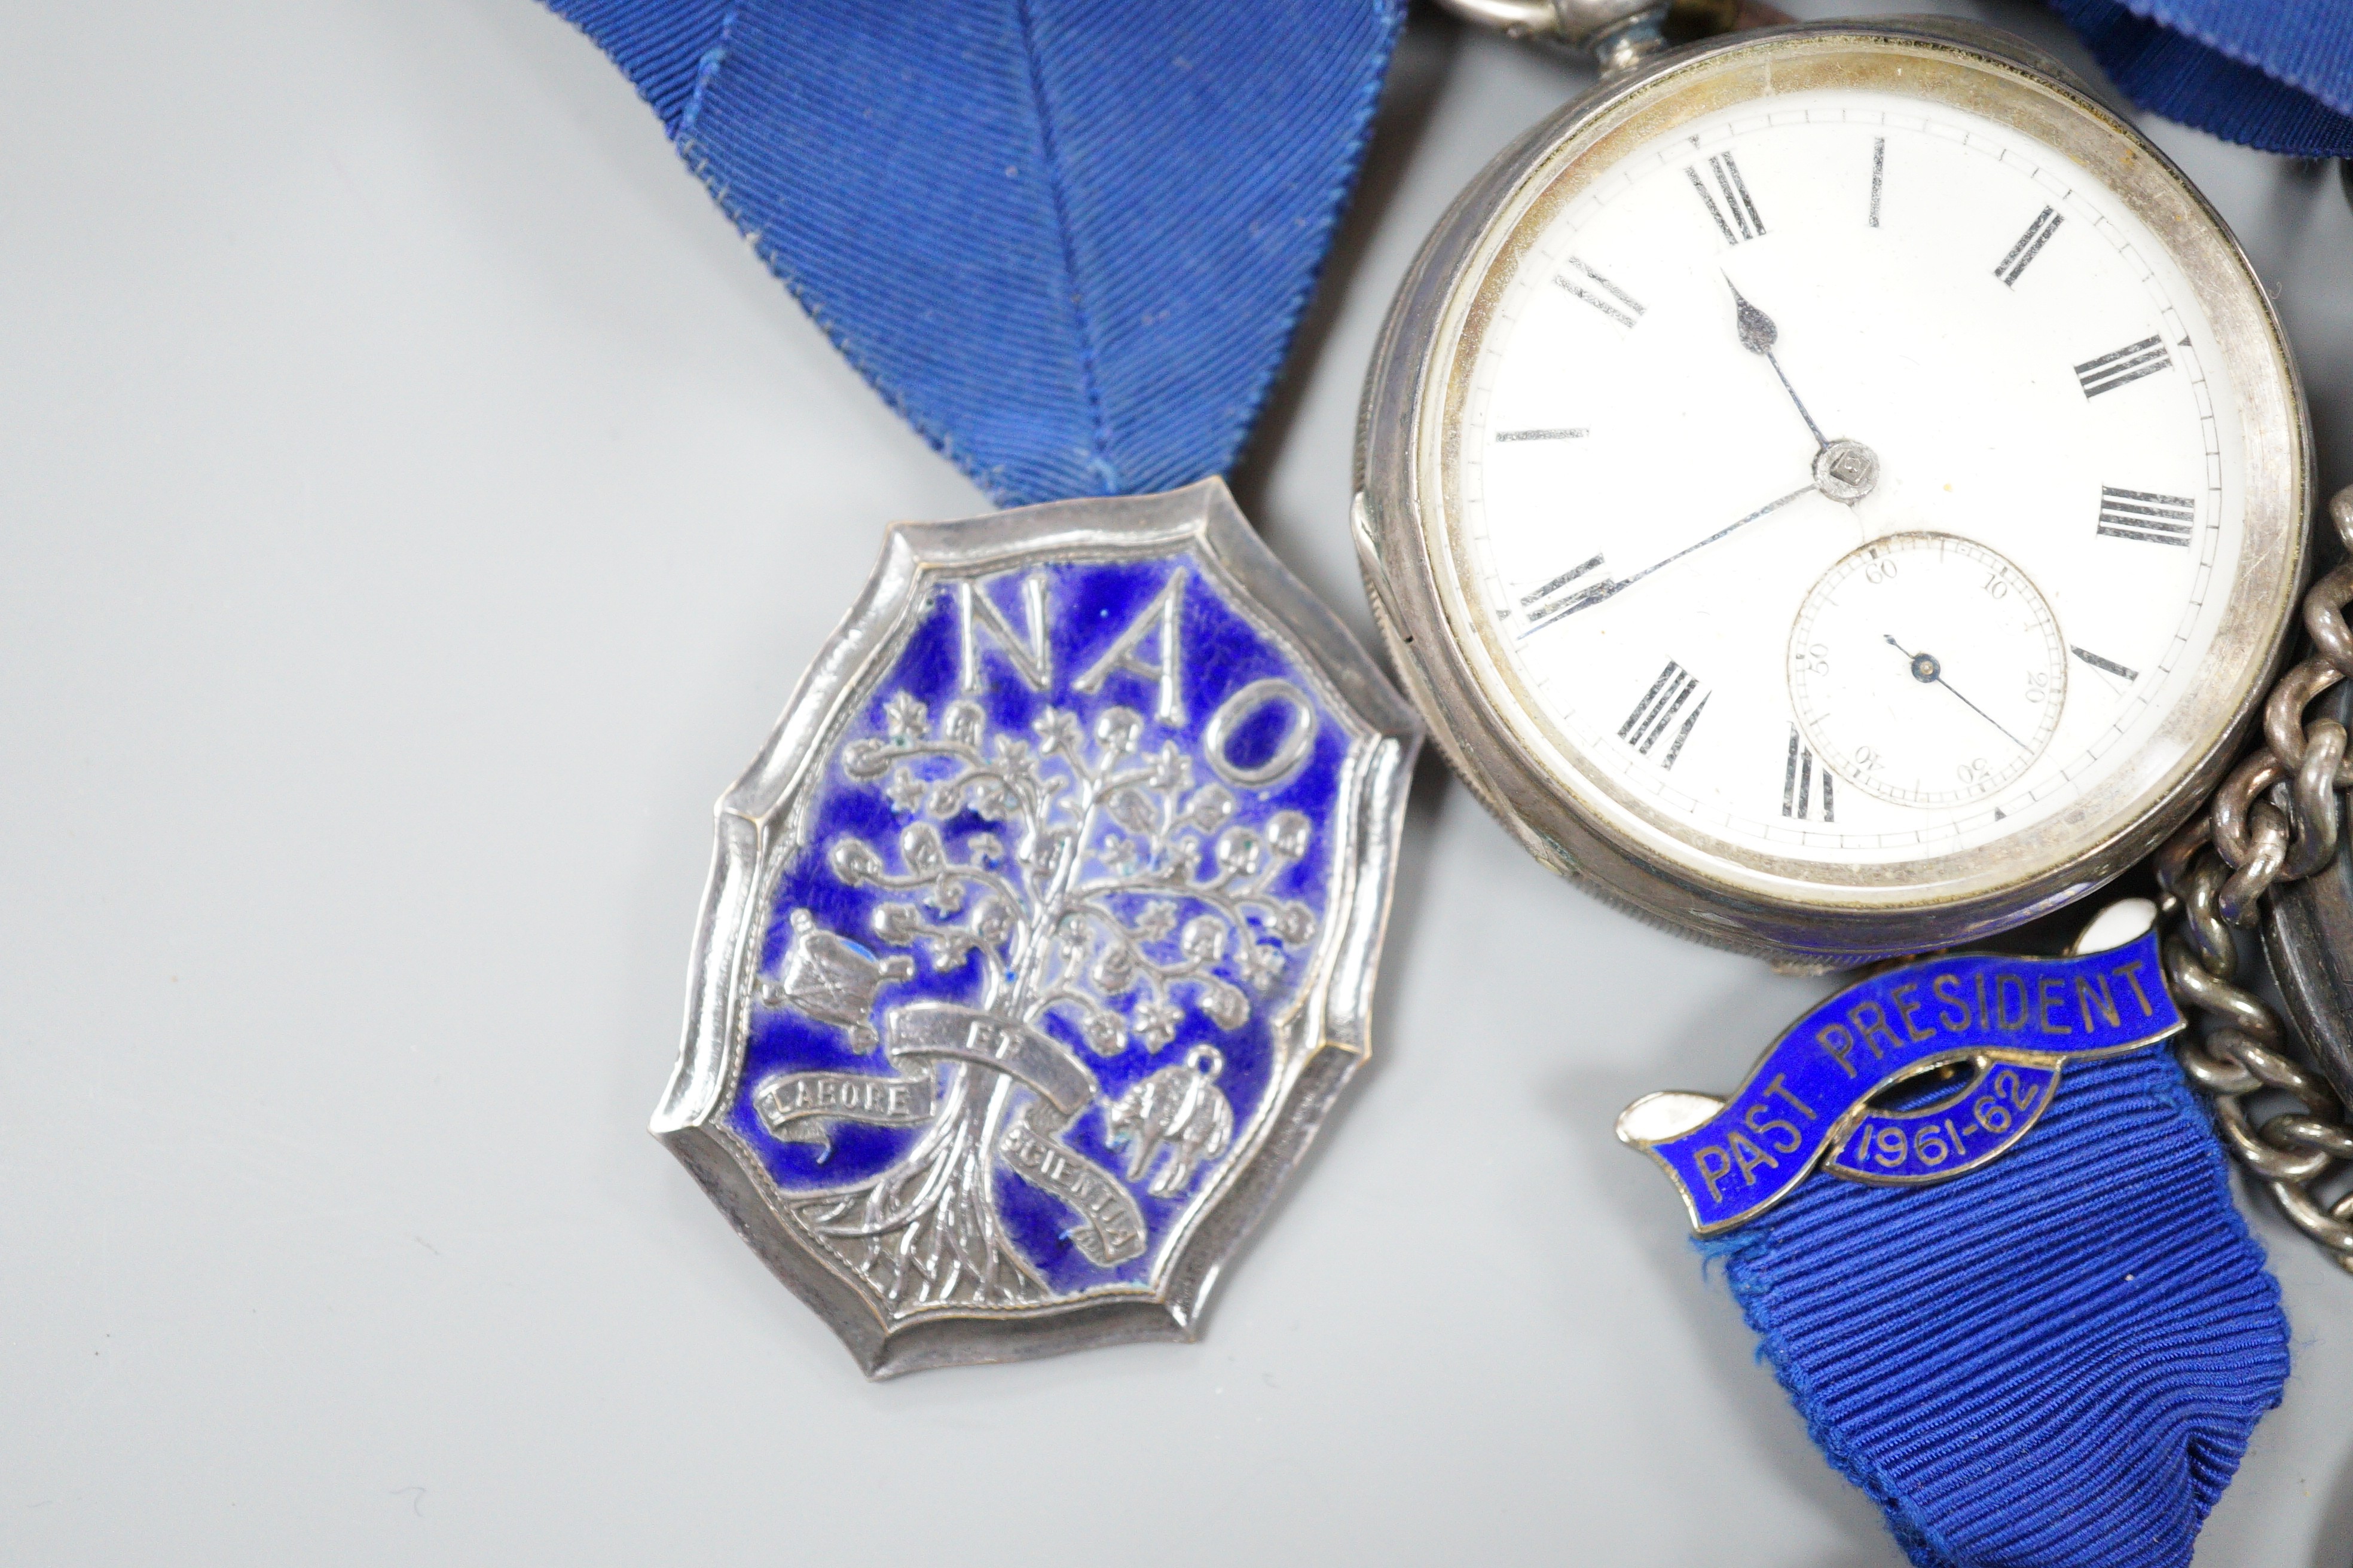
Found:
M 852 364 L 1005 505 L 1226 470 L 1400 0 L 548 0 Z

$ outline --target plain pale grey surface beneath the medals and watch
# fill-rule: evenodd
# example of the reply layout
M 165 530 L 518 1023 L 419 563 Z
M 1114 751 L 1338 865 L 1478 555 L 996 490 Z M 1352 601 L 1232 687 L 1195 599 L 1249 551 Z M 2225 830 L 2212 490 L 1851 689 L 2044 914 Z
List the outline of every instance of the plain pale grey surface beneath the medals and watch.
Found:
M 1609 1140 L 1817 987 L 1438 769 L 1207 1340 L 861 1382 L 642 1126 L 711 799 L 981 496 L 527 0 L 0 14 L 0 1561 L 1899 1563 Z M 1238 475 L 1360 630 L 1381 310 L 1584 80 L 1414 16 Z M 2334 174 L 2151 132 L 2353 480 Z M 2252 1213 L 2297 1375 L 2198 1561 L 2344 1568 L 2353 1281 Z

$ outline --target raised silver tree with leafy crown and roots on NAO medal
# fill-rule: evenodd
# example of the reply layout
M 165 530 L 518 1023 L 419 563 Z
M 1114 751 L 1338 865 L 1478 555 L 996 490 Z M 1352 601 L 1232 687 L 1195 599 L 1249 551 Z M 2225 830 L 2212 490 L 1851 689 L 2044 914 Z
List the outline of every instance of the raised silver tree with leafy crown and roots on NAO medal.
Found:
M 873 936 L 922 952 L 939 973 L 979 961 L 976 1006 L 998 1018 L 1035 1027 L 1059 1013 L 1096 1056 L 1129 1039 L 1158 1053 L 1176 1039 L 1184 1001 L 1219 1030 L 1242 1027 L 1247 992 L 1278 985 L 1315 938 L 1308 905 L 1268 893 L 1306 856 L 1308 818 L 1238 820 L 1233 792 L 1195 785 L 1174 741 L 1141 752 L 1144 719 L 1127 708 L 1094 719 L 1092 745 L 1061 708 L 1024 741 L 993 733 L 972 701 L 948 703 L 932 724 L 901 691 L 885 729 L 842 748 L 840 764 L 854 780 L 880 780 L 911 818 L 899 870 L 859 837 L 835 839 L 828 865 L 852 886 L 913 893 L 875 907 Z M 951 849 L 941 825 L 967 816 L 995 830 Z M 894 1309 L 1040 1300 L 1049 1291 L 1012 1244 L 995 1185 L 1019 1086 L 972 1063 L 939 1072 L 936 1114 L 906 1159 L 807 1199 L 798 1215 Z

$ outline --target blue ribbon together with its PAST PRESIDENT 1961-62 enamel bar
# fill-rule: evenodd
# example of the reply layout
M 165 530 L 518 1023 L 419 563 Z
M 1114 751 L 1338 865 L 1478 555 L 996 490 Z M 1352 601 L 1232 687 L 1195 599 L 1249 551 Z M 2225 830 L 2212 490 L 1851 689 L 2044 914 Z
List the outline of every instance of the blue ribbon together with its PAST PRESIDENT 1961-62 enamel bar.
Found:
M 1934 957 L 1817 1006 L 1729 1100 L 1619 1124 L 1920 1568 L 2184 1568 L 2280 1401 L 2280 1288 L 2151 1048 L 2179 1027 L 2155 936 Z M 1937 1065 L 1962 1086 L 1906 1098 Z

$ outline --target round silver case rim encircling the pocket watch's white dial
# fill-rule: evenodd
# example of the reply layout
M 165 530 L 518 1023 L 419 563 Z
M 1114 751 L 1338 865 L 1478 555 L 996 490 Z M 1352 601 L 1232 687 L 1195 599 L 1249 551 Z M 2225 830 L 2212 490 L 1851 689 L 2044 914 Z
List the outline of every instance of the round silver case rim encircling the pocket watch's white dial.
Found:
M 1497 691 L 1466 658 L 1440 574 L 1447 541 L 1449 440 L 1442 402 L 1461 395 L 1461 341 L 1480 317 L 1482 277 L 1546 202 L 1574 190 L 1574 160 L 1607 136 L 1657 134 L 1739 96 L 1864 80 L 1906 89 L 1944 82 L 1977 113 L 2012 115 L 2042 141 L 2111 176 L 2177 252 L 2245 388 L 2247 545 L 2240 581 L 2209 654 L 2207 696 L 2184 701 L 2158 741 L 2179 762 L 2155 785 L 2108 799 L 1979 851 L 1859 870 L 1833 882 L 1817 865 L 1779 863 L 1746 882 L 1722 875 L 1755 856 L 1694 846 L 1666 818 L 1642 846 L 1598 799 L 1607 780 L 1569 776 L 1515 736 Z M 1697 101 L 1697 108 L 1678 108 Z M 1534 216 L 1532 216 L 1534 214 Z M 1551 870 L 1645 919 L 1720 947 L 1800 966 L 1840 966 L 1986 938 L 2094 891 L 2151 853 L 2221 780 L 2280 668 L 2306 576 L 2311 435 L 2285 334 L 2254 268 L 2224 221 L 2165 155 L 2104 108 L 2064 66 L 2031 45 L 1944 19 L 1765 28 L 1659 54 L 1605 78 L 1506 148 L 1428 237 L 1400 289 L 1358 423 L 1358 562 L 1374 623 L 1407 693 L 1471 792 Z M 1565 755 L 1565 752 L 1562 752 Z M 2111 790 L 2113 792 L 2113 790 Z M 1617 795 L 1617 811 L 1645 816 Z M 1795 896 L 1758 891 L 1777 879 Z

